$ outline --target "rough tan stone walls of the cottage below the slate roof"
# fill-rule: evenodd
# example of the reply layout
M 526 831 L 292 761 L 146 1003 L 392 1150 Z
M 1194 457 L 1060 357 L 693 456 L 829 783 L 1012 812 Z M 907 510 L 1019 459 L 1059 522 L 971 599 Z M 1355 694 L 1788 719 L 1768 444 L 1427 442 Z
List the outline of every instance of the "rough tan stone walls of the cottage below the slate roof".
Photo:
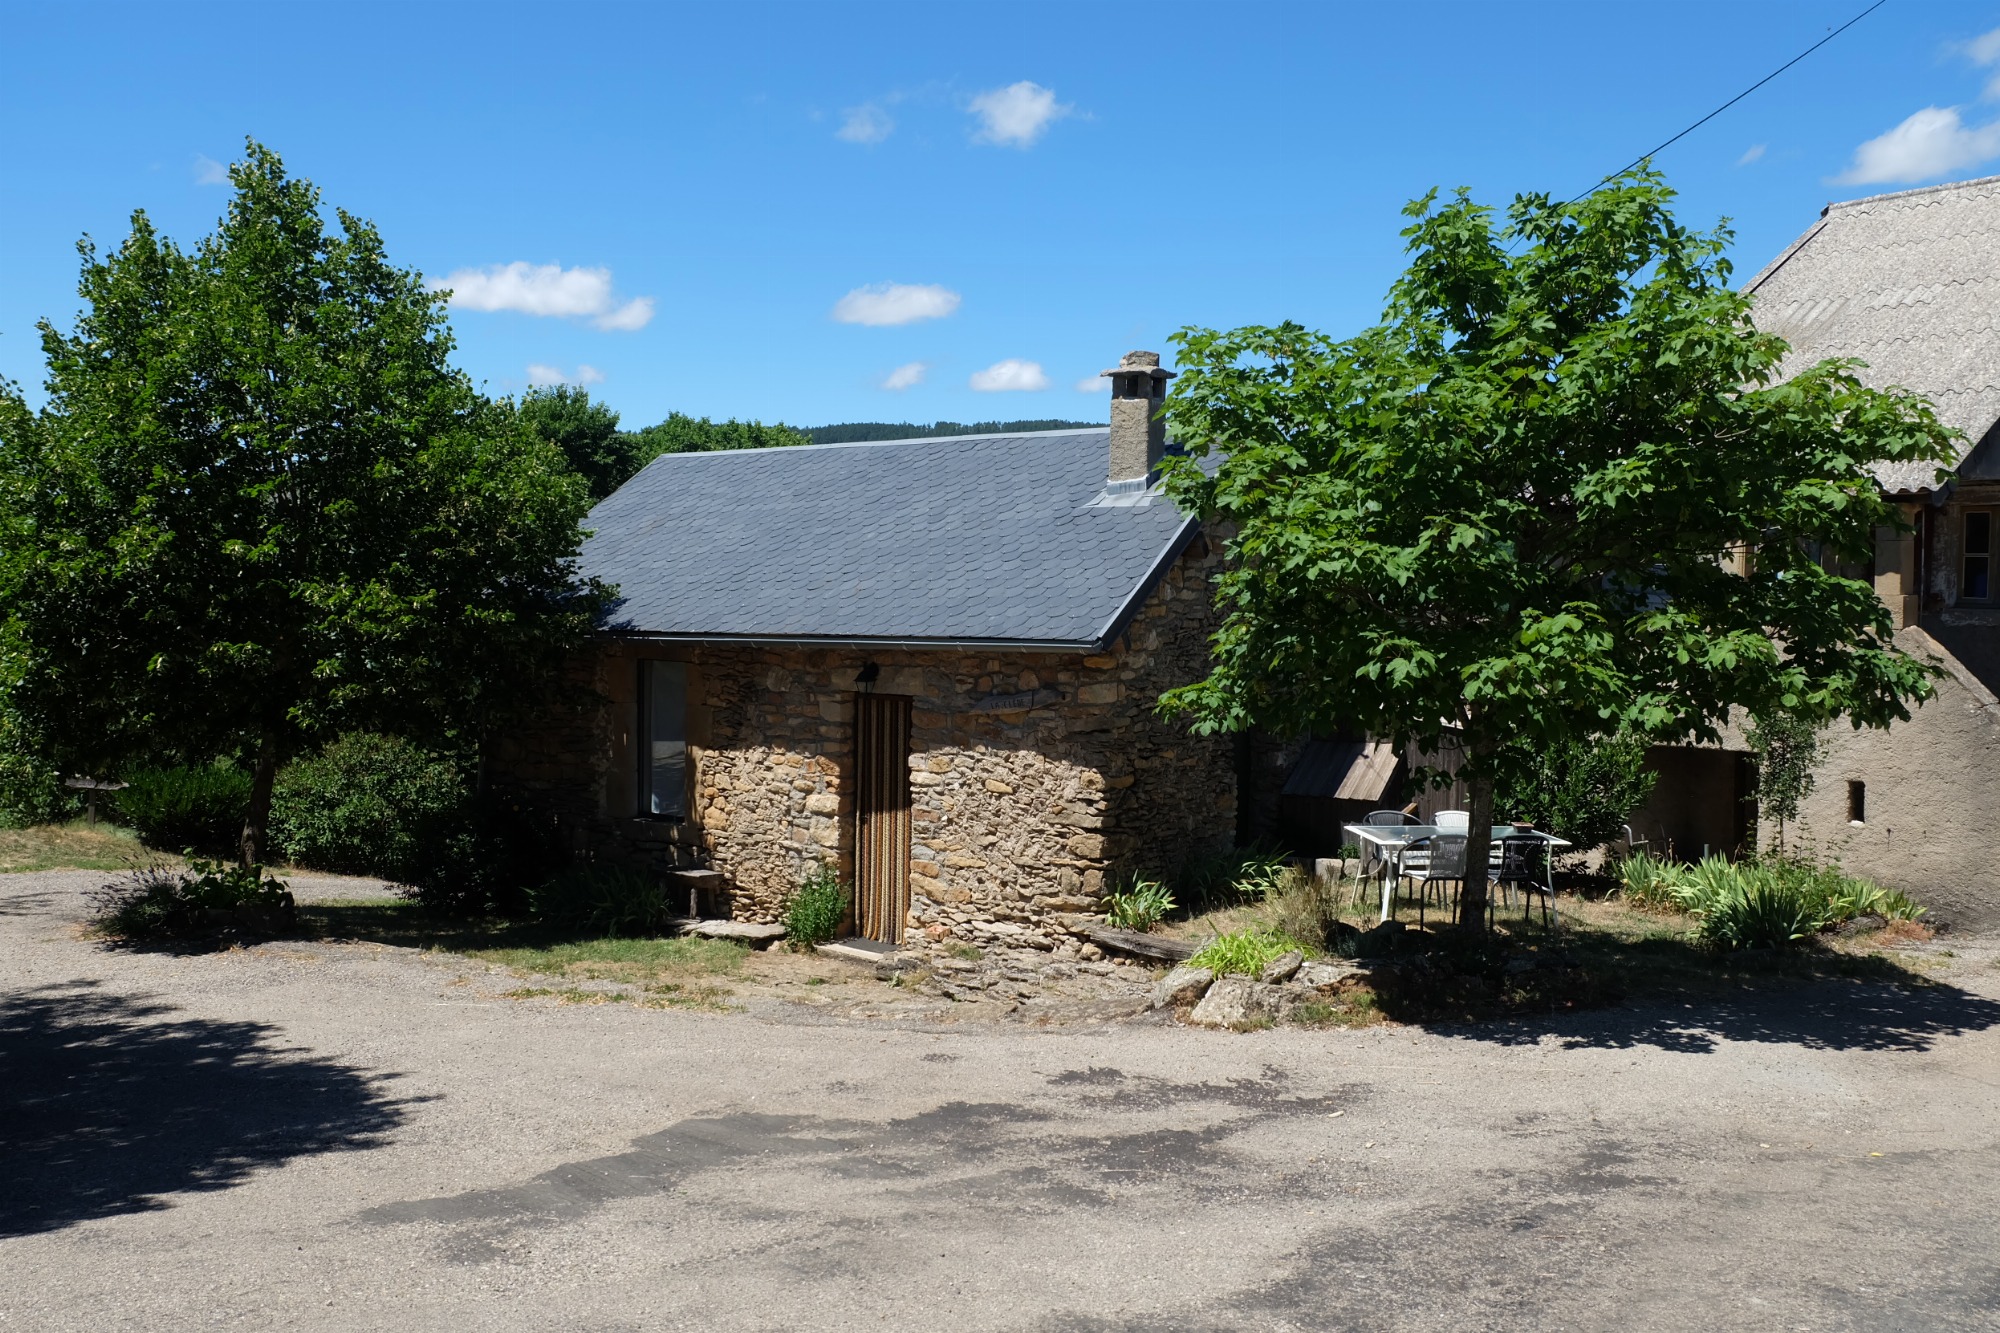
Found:
M 774 921 L 818 861 L 852 873 L 856 675 L 912 699 L 910 943 L 1068 945 L 1120 873 L 1166 875 L 1230 845 L 1228 737 L 1162 723 L 1206 673 L 1218 554 L 1198 540 L 1102 654 L 814 650 L 612 640 L 594 703 L 502 755 L 502 781 L 558 809 L 582 855 L 670 869 L 700 855 L 730 915 Z M 688 662 L 690 821 L 634 819 L 640 658 Z

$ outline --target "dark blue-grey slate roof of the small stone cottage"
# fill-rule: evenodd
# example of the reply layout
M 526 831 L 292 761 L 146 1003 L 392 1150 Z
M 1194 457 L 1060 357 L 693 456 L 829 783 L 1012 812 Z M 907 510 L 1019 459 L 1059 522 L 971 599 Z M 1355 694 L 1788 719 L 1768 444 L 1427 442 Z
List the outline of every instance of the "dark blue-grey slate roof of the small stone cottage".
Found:
M 748 642 L 1092 650 L 1194 538 L 1106 494 L 1110 432 L 662 454 L 590 510 L 606 628 Z

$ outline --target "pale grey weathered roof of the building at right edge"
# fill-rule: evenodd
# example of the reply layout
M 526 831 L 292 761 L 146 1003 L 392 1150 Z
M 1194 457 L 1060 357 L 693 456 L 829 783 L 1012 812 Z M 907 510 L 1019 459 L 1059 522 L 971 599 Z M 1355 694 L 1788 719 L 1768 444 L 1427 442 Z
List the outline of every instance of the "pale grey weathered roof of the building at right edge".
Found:
M 1790 340 L 1788 370 L 1860 356 L 1864 382 L 1928 394 L 1966 450 L 2000 420 L 2000 176 L 1828 204 L 1744 290 Z M 1876 476 L 1934 486 L 1928 462 Z

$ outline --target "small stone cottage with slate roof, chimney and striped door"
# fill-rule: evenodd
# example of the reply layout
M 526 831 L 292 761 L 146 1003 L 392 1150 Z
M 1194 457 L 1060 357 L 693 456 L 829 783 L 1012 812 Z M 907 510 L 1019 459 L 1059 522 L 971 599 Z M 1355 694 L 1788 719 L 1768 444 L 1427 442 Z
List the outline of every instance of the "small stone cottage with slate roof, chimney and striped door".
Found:
M 1154 713 L 1220 550 L 1156 484 L 1170 372 L 1106 374 L 1108 428 L 656 458 L 588 520 L 596 705 L 502 781 L 742 921 L 832 863 L 884 943 L 1066 945 L 1116 875 L 1226 847 L 1234 743 Z

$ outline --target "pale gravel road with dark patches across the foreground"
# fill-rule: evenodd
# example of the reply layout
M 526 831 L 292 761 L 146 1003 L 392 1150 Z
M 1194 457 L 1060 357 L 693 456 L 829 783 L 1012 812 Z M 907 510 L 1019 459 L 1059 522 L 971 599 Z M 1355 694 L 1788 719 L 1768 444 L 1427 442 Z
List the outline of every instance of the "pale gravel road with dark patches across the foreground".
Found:
M 1546 1025 L 920 1031 L 110 951 L 100 881 L 0 877 L 0 1329 L 2000 1327 L 1978 941 Z

